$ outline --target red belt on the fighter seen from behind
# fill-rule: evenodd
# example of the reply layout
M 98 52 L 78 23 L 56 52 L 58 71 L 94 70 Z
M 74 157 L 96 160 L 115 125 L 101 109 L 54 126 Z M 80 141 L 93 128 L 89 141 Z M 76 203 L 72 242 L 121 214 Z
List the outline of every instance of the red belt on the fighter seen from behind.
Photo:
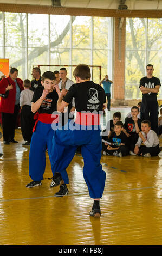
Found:
M 77 112 L 75 123 L 80 125 L 99 125 L 100 114 Z

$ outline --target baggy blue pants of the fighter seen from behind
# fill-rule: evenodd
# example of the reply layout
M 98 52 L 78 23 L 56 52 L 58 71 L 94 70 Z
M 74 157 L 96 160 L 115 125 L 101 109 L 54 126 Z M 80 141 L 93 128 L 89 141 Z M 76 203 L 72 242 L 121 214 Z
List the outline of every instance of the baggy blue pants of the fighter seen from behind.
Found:
M 75 124 L 75 123 L 74 123 Z M 68 184 L 66 168 L 72 161 L 78 146 L 84 160 L 83 177 L 91 198 L 101 198 L 105 187 L 106 173 L 102 170 L 100 126 L 98 130 L 88 130 L 88 126 L 77 125 L 75 130 L 56 130 L 53 137 L 53 161 L 51 167 L 60 172 L 64 183 Z M 85 130 L 82 130 L 85 129 Z M 95 126 L 96 129 L 96 126 Z

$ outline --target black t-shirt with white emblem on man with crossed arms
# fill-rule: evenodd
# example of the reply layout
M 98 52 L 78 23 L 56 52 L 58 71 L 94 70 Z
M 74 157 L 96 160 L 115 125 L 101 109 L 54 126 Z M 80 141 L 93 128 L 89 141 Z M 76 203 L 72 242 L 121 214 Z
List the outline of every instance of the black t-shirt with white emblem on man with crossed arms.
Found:
M 139 88 L 141 86 L 144 86 L 146 88 L 155 88 L 155 86 L 161 86 L 160 80 L 157 77 L 152 77 L 152 78 L 147 78 L 147 76 L 141 78 L 140 80 L 140 85 Z M 146 94 L 142 94 L 143 98 L 146 99 L 147 101 L 157 101 L 157 93 L 146 93 Z

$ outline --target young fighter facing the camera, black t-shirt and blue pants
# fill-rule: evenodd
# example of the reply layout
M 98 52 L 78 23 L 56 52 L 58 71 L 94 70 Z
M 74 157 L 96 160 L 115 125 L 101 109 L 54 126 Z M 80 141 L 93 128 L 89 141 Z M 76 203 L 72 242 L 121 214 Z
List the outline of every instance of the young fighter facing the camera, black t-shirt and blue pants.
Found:
M 33 180 L 26 187 L 36 187 L 42 185 L 43 174 L 46 167 L 46 148 L 51 162 L 51 149 L 54 130 L 51 123 L 58 122 L 58 114 L 52 116 L 57 109 L 58 94 L 55 87 L 55 75 L 51 71 L 44 72 L 42 75 L 42 87 L 35 89 L 31 111 L 35 114 L 35 126 L 31 137 L 29 152 L 29 176 Z M 54 169 L 52 169 L 53 175 Z M 60 184 L 61 176 L 57 184 Z

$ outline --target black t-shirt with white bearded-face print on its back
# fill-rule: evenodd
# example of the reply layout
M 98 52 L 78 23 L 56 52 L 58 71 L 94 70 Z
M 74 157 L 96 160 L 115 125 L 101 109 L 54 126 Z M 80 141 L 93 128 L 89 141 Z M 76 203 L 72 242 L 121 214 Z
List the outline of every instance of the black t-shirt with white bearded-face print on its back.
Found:
M 77 112 L 95 111 L 99 113 L 99 111 L 102 111 L 103 103 L 106 102 L 104 89 L 93 81 L 73 84 L 64 96 L 63 101 L 70 103 L 73 97 Z

